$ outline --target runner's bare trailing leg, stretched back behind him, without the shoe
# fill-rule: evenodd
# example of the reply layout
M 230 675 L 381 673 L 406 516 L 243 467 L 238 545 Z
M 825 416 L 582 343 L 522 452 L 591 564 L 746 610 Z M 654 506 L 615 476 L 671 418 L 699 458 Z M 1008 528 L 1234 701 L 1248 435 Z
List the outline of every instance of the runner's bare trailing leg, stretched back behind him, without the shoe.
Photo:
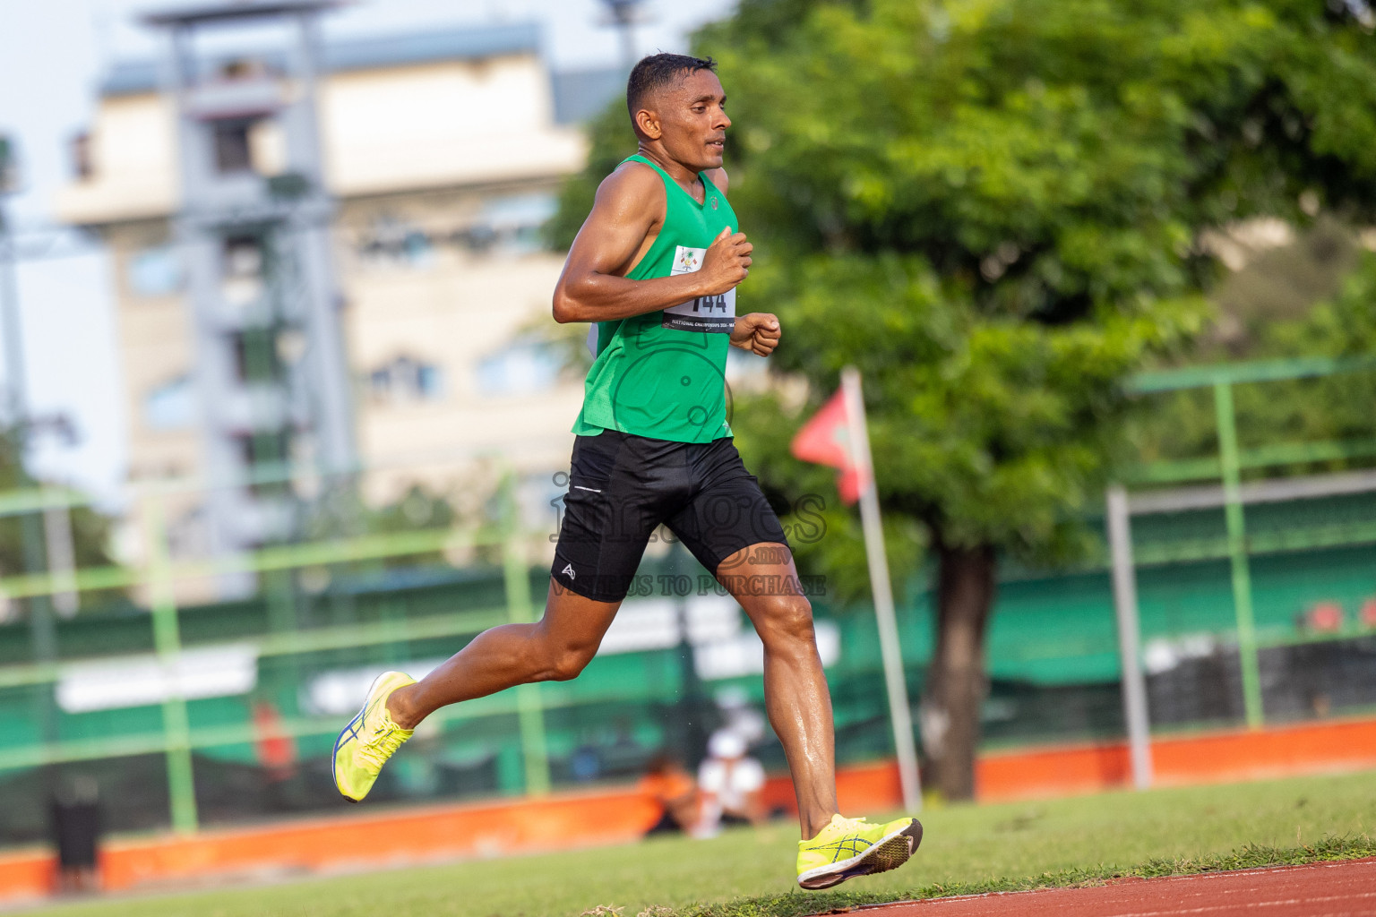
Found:
M 545 616 L 475 637 L 429 675 L 392 692 L 387 709 L 402 729 L 440 707 L 527 682 L 568 681 L 592 661 L 621 602 L 596 602 L 550 582 Z

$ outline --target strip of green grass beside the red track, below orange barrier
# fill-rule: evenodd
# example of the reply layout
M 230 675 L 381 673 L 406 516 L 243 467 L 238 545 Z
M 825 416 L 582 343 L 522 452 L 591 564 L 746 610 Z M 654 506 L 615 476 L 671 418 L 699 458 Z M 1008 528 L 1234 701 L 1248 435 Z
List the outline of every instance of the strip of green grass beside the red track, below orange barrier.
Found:
M 877 815 L 872 813 L 871 815 Z M 710 841 L 515 857 L 107 899 L 44 917 L 790 917 L 899 898 L 1010 891 L 1315 859 L 1376 855 L 1376 771 L 1342 777 L 1105 793 L 923 814 L 903 869 L 805 894 L 793 885 L 797 833 L 779 822 Z M 655 909 L 662 910 L 655 910 Z M 603 913 L 607 913 L 605 910 Z

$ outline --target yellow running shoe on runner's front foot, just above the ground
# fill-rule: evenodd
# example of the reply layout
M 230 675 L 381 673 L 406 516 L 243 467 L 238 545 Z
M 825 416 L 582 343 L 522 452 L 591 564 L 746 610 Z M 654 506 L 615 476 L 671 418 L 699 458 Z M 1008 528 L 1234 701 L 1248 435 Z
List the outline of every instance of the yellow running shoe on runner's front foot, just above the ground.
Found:
M 922 822 L 900 818 L 870 825 L 863 818 L 832 815 L 812 840 L 798 841 L 798 884 L 831 888 L 856 876 L 897 869 L 922 843 Z

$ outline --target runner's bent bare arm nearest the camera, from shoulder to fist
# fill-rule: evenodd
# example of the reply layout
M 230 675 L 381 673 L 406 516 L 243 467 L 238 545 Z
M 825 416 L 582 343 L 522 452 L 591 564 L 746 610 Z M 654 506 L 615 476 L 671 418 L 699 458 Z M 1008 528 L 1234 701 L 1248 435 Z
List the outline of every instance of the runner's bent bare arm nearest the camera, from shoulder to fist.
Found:
M 555 285 L 555 320 L 611 322 L 699 296 L 718 296 L 750 274 L 751 245 L 727 230 L 692 274 L 630 280 L 665 220 L 665 186 L 649 166 L 627 162 L 603 180 Z

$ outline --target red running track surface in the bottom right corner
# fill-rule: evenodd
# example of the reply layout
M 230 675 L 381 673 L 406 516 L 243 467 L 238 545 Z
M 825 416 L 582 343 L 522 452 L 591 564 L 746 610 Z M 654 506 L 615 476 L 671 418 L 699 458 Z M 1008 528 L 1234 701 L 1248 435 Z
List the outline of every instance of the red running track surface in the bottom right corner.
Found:
M 1376 914 L 1376 858 L 932 898 L 864 910 L 866 917 L 1357 917 Z

